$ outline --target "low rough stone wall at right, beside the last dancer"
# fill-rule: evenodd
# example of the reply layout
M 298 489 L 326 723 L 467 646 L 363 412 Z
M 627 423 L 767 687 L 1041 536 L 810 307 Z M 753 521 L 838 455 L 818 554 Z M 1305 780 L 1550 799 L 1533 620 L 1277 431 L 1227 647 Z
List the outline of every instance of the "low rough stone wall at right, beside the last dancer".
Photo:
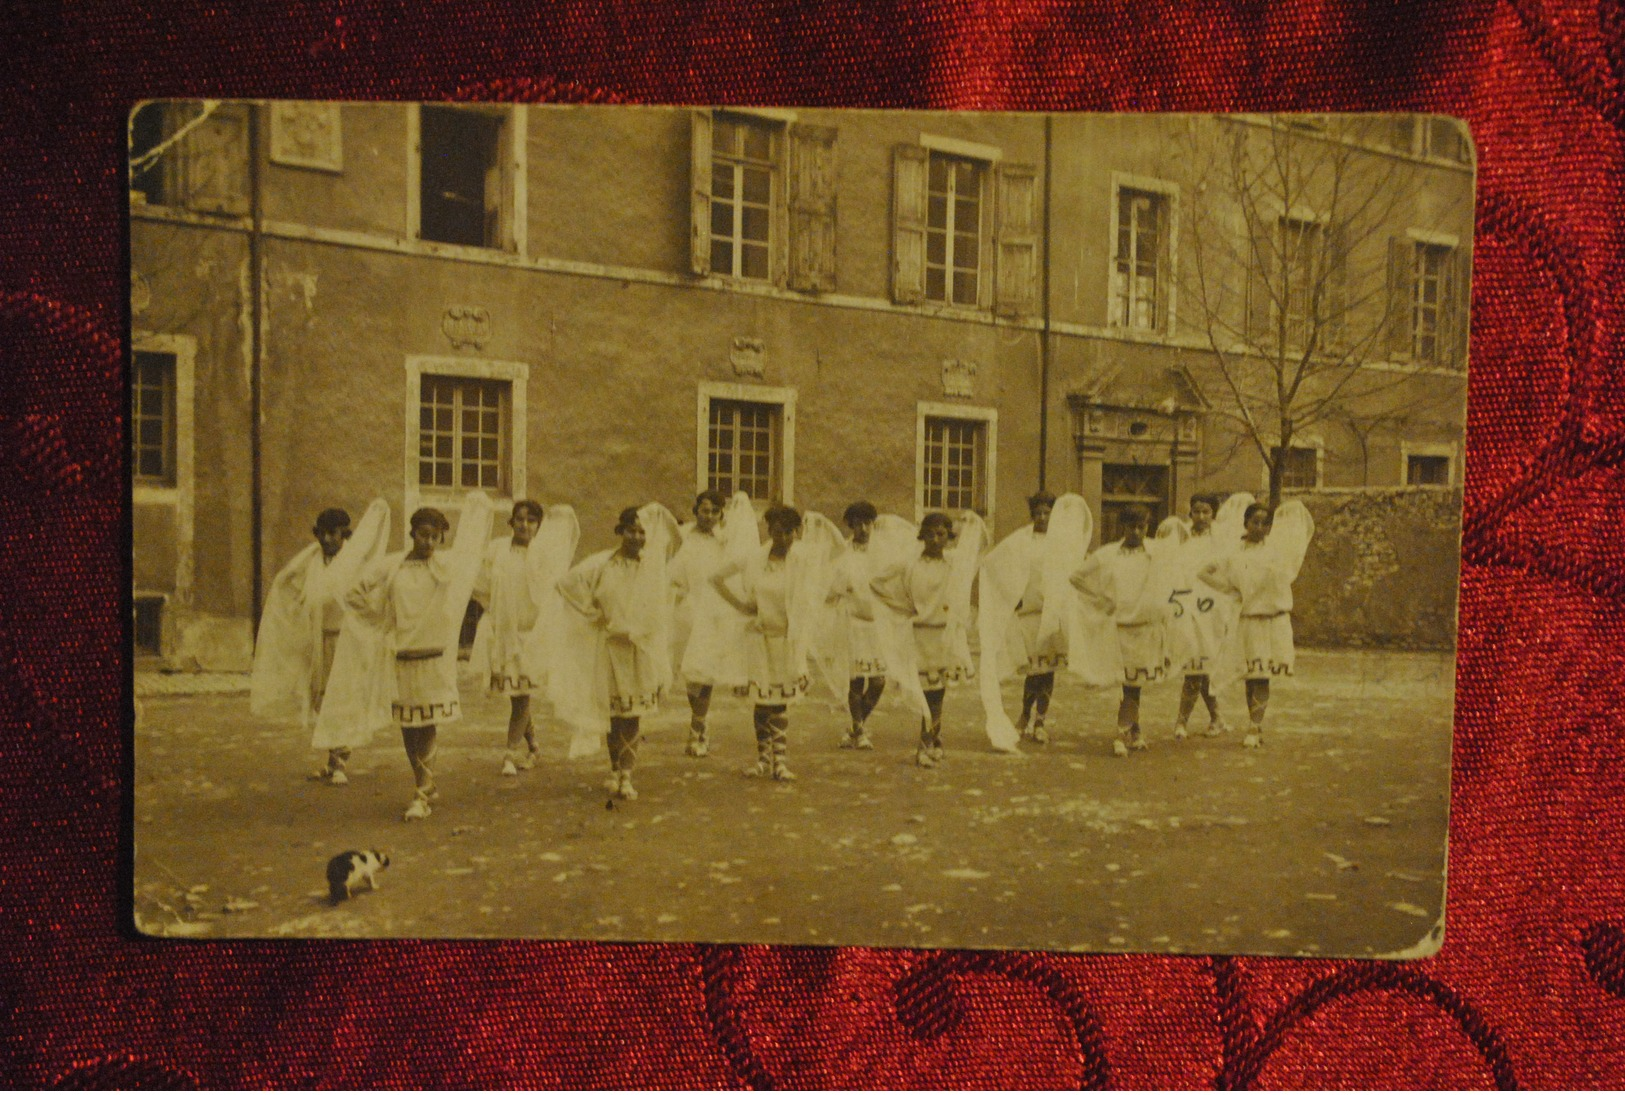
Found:
M 1459 487 L 1323 489 L 1289 497 L 1315 515 L 1315 541 L 1294 585 L 1298 643 L 1456 645 Z

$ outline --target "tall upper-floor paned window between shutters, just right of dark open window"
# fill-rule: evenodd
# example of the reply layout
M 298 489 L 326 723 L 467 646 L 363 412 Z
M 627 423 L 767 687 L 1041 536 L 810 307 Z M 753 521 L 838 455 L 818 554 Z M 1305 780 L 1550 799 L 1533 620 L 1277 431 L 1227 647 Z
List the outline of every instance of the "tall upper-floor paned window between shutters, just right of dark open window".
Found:
M 731 278 L 772 279 L 774 206 L 780 200 L 783 127 L 718 114 L 712 128 L 710 268 Z

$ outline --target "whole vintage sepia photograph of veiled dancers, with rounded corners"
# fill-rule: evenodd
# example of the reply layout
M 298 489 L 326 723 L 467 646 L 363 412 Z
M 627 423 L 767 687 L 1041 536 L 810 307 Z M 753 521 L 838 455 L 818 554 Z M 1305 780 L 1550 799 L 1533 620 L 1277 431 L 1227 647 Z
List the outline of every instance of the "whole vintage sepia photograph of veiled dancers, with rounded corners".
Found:
M 141 934 L 1440 947 L 1461 122 L 128 133 Z

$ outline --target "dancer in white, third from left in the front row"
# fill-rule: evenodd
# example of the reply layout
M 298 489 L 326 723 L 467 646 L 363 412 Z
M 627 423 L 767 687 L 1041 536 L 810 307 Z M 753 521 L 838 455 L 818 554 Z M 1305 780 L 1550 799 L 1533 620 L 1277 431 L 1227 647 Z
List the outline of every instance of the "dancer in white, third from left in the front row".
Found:
M 756 765 L 746 775 L 788 781 L 788 710 L 811 684 L 808 655 L 829 612 L 830 569 L 843 551 L 840 533 L 819 513 L 769 507 L 769 543 L 712 575 L 712 588 L 748 617 L 744 694 L 754 703 Z M 736 591 L 738 590 L 738 591 Z

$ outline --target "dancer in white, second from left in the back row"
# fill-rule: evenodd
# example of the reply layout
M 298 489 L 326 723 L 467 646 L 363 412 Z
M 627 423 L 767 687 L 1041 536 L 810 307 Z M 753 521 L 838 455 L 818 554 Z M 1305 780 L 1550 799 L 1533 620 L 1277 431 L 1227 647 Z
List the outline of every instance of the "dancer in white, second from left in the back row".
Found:
M 557 637 L 564 608 L 556 586 L 575 557 L 582 530 L 569 505 L 544 510 L 530 499 L 514 504 L 509 528 L 512 536 L 494 539 L 486 549 L 474 582 L 474 599 L 486 611 L 468 673 L 488 692 L 509 697 L 502 775 L 518 775 L 540 754 L 530 699 L 546 689 L 548 643 Z

